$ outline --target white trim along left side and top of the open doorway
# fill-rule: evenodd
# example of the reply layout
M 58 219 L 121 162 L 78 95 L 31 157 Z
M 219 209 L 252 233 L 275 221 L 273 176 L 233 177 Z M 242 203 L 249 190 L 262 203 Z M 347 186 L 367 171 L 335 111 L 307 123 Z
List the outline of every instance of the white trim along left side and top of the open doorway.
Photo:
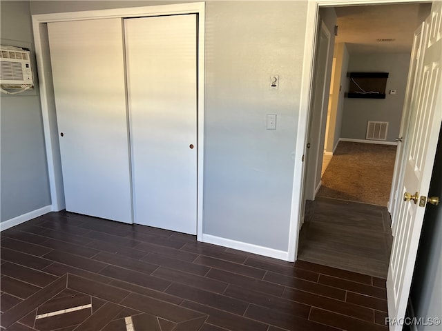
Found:
M 331 6 L 361 6 L 367 4 L 387 3 L 419 3 L 416 0 L 309 0 L 307 3 L 307 21 L 305 27 L 304 62 L 302 63 L 302 83 L 299 103 L 299 121 L 296 135 L 296 153 L 294 166 L 294 181 L 291 192 L 291 214 L 289 229 L 288 261 L 295 261 L 298 256 L 298 236 L 300 218 L 302 217 L 302 190 L 305 163 L 302 155 L 305 154 L 307 143 L 307 128 L 309 123 L 310 96 L 313 84 L 314 55 L 316 52 L 316 34 L 318 28 L 318 14 L 320 7 Z

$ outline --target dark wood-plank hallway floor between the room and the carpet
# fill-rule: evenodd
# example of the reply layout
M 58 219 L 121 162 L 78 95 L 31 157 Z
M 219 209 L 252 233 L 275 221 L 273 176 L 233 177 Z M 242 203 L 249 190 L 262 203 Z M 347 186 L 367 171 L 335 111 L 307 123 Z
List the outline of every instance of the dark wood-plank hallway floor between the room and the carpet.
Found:
M 390 225 L 385 206 L 316 197 L 305 205 L 298 259 L 387 278 L 392 243 Z M 339 274 L 330 276 L 345 278 Z M 365 283 L 363 279 L 361 282 Z M 367 284 L 372 285 L 371 280 Z

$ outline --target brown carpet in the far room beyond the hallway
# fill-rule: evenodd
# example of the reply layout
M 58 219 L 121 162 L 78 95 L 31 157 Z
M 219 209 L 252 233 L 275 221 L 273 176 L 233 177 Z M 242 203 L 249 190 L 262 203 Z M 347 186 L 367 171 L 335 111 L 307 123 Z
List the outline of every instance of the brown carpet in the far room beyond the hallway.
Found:
M 396 146 L 340 141 L 318 197 L 387 205 Z

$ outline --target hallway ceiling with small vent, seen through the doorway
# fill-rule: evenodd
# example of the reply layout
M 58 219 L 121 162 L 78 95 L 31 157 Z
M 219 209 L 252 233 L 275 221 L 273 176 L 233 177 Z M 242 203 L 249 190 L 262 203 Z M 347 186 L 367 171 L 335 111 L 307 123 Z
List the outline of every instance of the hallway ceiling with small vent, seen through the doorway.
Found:
M 430 13 L 430 8 L 430 3 L 335 7 L 338 16 L 335 42 L 347 43 L 349 53 L 410 52 L 414 30 Z

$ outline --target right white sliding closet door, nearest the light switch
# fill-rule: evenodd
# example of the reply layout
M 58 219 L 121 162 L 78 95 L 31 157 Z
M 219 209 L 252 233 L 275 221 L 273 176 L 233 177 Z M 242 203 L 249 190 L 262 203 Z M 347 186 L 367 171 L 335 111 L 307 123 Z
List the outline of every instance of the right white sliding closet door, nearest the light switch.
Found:
M 195 14 L 125 19 L 135 223 L 196 234 Z

